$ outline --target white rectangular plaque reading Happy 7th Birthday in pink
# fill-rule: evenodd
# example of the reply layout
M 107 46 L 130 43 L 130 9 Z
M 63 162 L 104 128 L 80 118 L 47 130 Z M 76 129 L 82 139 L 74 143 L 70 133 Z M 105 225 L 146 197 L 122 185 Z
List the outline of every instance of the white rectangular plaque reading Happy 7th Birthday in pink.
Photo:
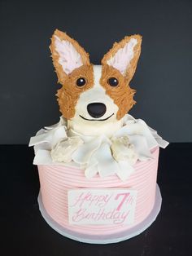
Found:
M 75 189 L 68 191 L 70 224 L 132 224 L 137 191 Z

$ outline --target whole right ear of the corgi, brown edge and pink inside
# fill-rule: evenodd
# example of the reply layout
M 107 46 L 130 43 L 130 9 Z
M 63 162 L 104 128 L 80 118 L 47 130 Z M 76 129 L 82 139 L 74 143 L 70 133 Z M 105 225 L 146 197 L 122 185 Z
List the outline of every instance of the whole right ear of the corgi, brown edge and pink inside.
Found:
M 115 42 L 111 50 L 103 56 L 102 64 L 116 68 L 130 82 L 141 53 L 142 36 L 133 35 Z

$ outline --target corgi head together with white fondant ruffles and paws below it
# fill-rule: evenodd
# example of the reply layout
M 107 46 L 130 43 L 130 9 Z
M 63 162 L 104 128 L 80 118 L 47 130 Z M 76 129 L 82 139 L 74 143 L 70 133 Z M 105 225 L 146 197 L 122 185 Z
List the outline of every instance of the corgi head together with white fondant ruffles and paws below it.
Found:
M 117 174 L 126 180 L 137 161 L 152 159 L 155 148 L 168 145 L 145 121 L 127 114 L 135 104 L 129 82 L 141 43 L 140 35 L 125 37 L 94 65 L 78 42 L 55 30 L 50 51 L 62 85 L 57 96 L 63 116 L 31 138 L 34 164 L 75 164 L 88 179 Z

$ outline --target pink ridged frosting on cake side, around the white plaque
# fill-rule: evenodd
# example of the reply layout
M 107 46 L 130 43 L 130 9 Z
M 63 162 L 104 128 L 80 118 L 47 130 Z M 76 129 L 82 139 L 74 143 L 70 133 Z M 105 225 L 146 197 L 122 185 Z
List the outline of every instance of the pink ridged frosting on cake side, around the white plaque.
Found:
M 42 202 L 46 212 L 61 226 L 87 235 L 107 235 L 123 232 L 141 223 L 155 204 L 155 188 L 159 148 L 152 152 L 154 159 L 137 161 L 135 172 L 126 181 L 115 174 L 101 179 L 98 175 L 86 179 L 84 170 L 63 165 L 38 166 Z M 69 225 L 68 190 L 76 188 L 132 188 L 137 190 L 137 203 L 132 225 Z

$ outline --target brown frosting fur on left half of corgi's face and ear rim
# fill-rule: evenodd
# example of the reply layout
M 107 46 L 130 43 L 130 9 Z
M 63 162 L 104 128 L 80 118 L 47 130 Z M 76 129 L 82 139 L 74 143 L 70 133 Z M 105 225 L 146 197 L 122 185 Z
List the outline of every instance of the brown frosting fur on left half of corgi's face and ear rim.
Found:
M 72 73 L 65 73 L 63 71 L 62 65 L 59 64 L 59 54 L 55 50 L 55 36 L 60 38 L 60 40 L 66 40 L 72 43 L 72 46 L 76 48 L 76 51 L 81 55 L 81 60 L 83 65 L 80 68 L 76 68 Z M 75 107 L 77 100 L 81 93 L 88 90 L 94 86 L 94 70 L 92 64 L 89 62 L 89 54 L 76 42 L 74 39 L 70 38 L 67 33 L 55 30 L 51 38 L 50 51 L 55 66 L 55 71 L 58 76 L 58 82 L 62 84 L 62 88 L 58 90 L 58 102 L 59 110 L 63 114 L 63 117 L 70 119 L 75 115 Z M 76 86 L 76 80 L 79 77 L 85 77 L 85 86 Z

